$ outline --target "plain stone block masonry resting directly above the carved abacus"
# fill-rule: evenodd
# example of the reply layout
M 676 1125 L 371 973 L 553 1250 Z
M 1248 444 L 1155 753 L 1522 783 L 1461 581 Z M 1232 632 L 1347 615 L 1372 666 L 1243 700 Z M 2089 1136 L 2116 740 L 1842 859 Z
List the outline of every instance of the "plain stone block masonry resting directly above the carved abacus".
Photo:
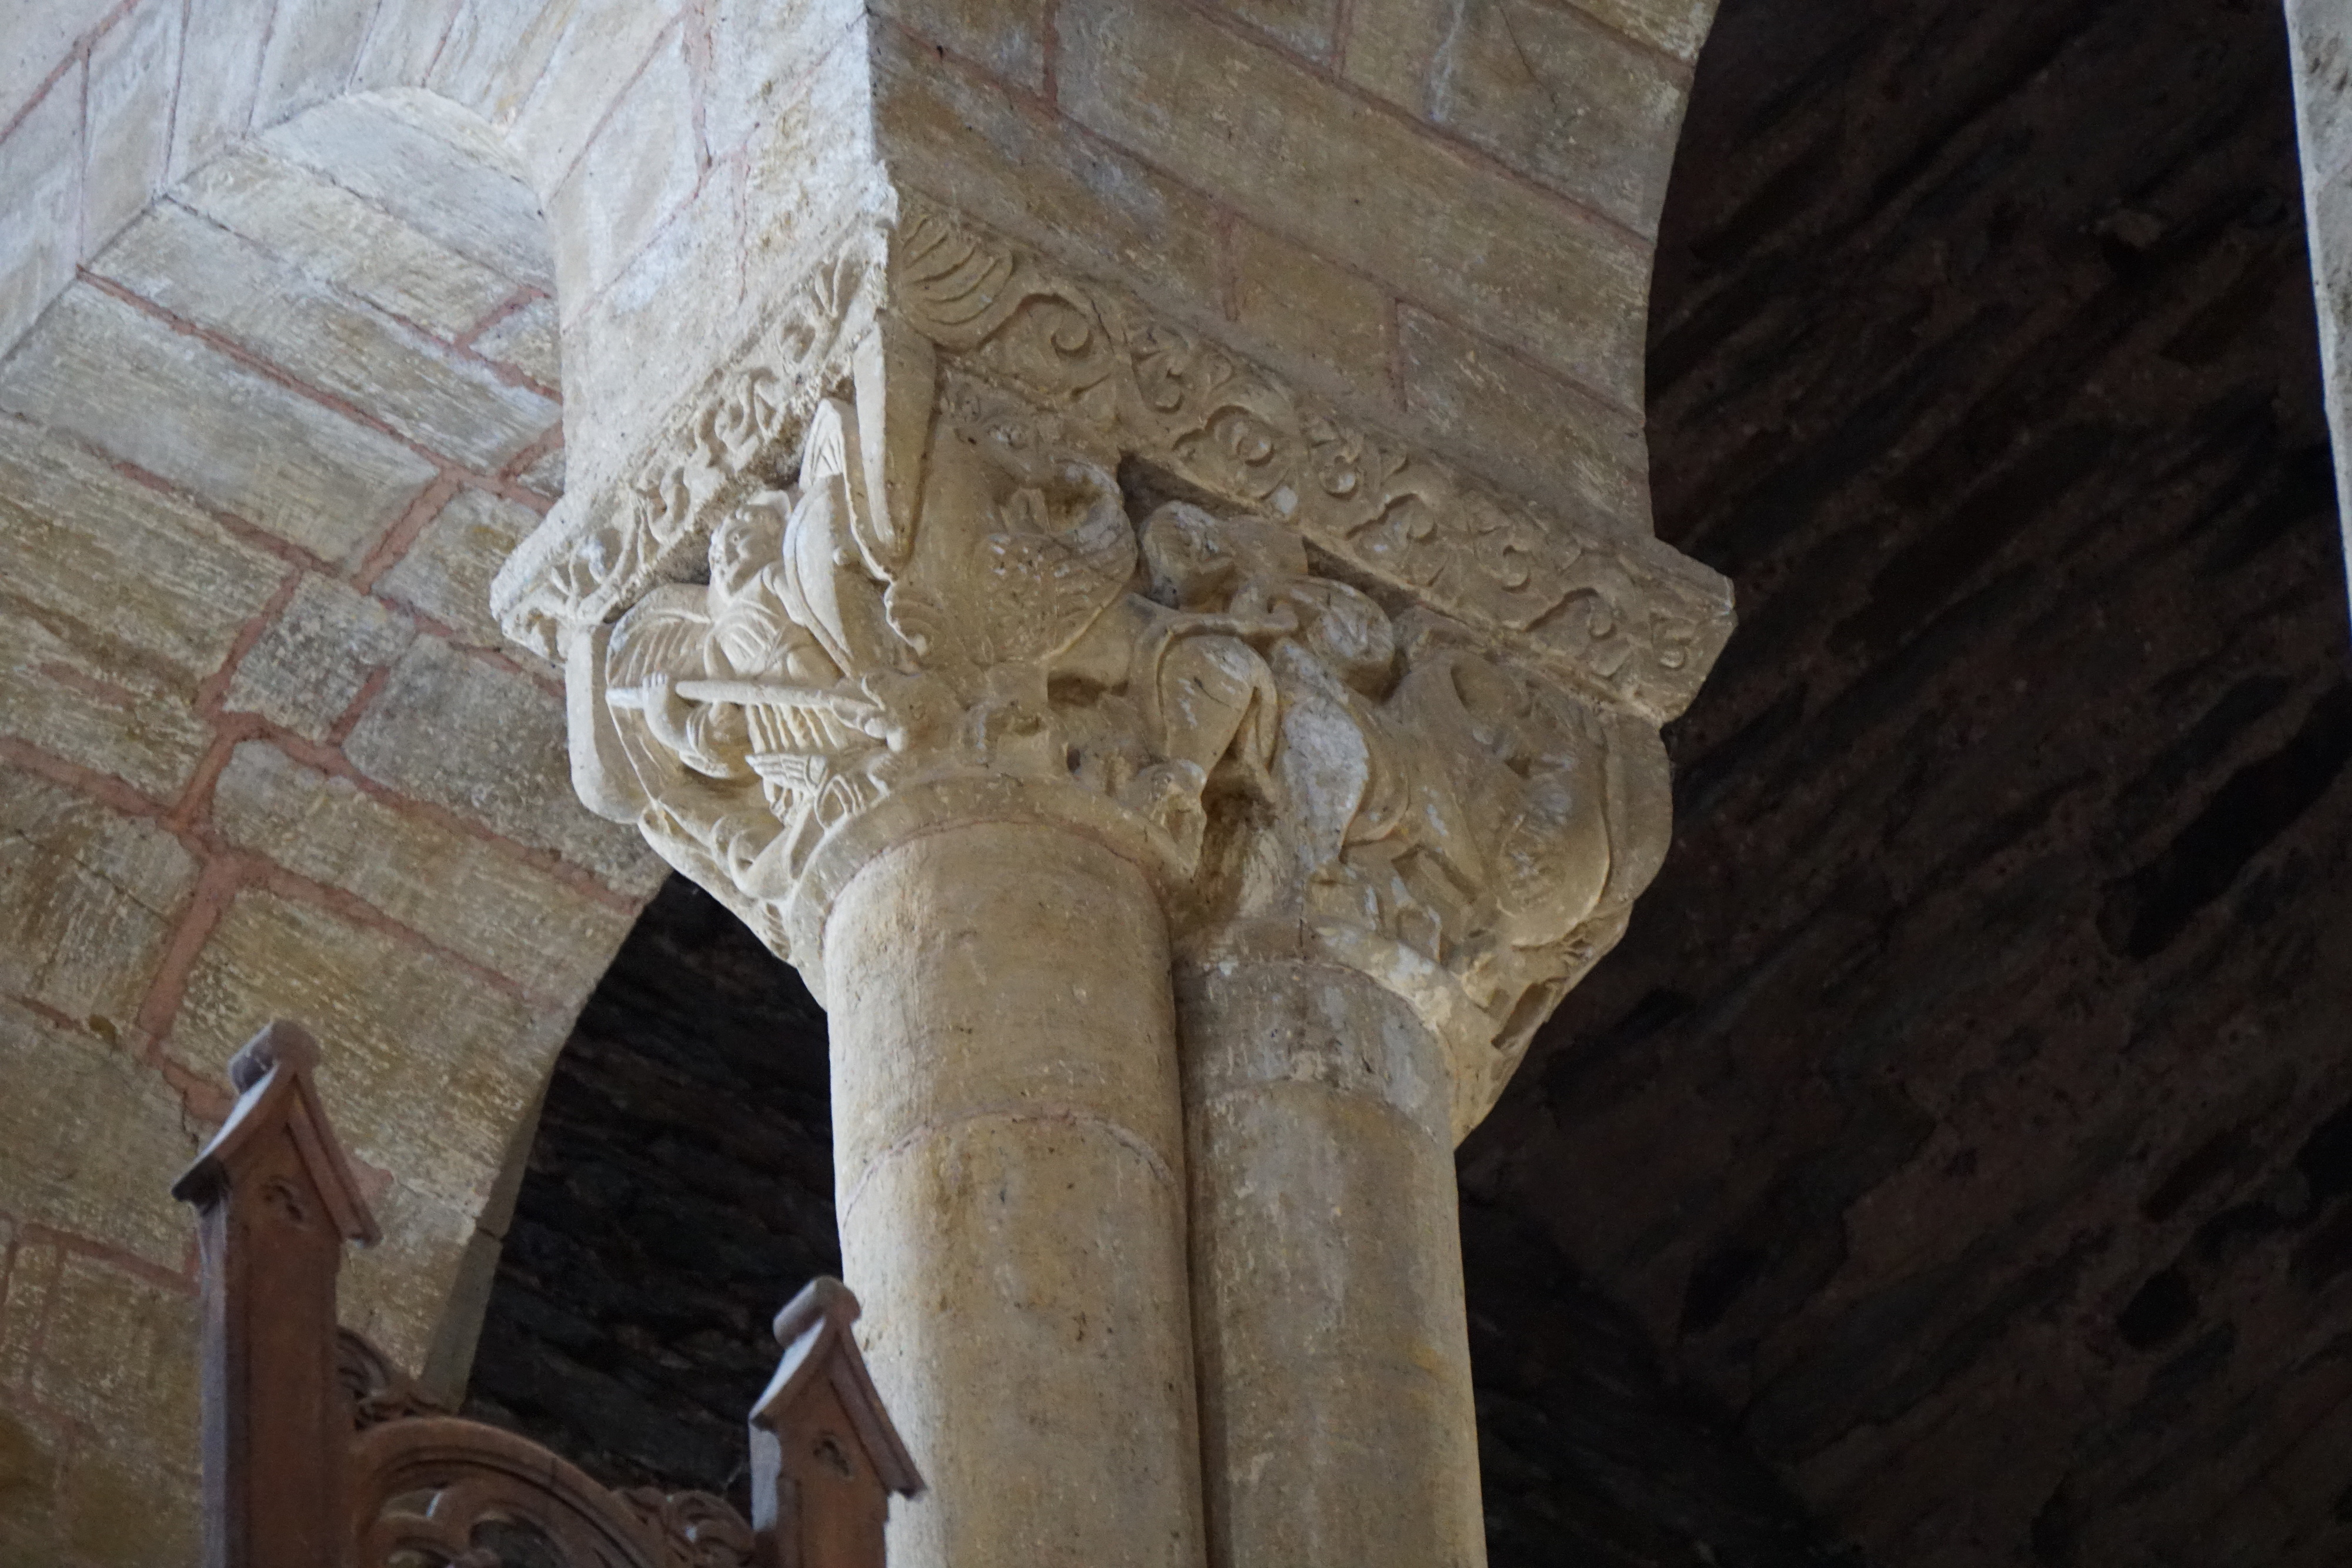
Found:
M 1545 505 L 1649 529 L 1642 329 L 1712 0 L 729 0 L 553 179 L 607 480 L 882 181 Z M 569 162 L 562 158 L 569 155 Z M 626 444 L 626 442 L 623 442 Z

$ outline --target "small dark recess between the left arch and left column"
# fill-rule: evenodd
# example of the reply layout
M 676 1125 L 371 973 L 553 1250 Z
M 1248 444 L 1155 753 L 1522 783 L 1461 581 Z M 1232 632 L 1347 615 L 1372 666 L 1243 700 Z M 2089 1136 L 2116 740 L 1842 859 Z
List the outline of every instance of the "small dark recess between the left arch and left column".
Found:
M 673 877 L 564 1044 L 468 1413 L 614 1486 L 743 1493 L 769 1324 L 840 1274 L 826 1016 Z

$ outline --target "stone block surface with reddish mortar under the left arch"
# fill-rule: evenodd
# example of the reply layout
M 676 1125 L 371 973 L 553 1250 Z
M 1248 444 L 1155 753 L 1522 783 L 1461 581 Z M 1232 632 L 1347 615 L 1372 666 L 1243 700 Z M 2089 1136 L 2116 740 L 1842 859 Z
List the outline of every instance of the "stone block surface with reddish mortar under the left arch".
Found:
M 489 621 L 562 409 L 536 200 L 466 136 L 376 96 L 245 141 L 0 360 L 0 1563 L 193 1559 L 167 1187 L 273 1016 L 386 1229 L 346 1321 L 463 1380 L 501 1175 L 659 882 Z

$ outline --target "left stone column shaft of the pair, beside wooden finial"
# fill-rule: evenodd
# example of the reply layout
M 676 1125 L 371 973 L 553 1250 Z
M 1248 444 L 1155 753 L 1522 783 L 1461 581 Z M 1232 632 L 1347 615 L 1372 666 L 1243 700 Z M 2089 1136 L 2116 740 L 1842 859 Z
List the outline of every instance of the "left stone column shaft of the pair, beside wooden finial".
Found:
M 1131 863 L 969 823 L 826 926 L 842 1260 L 929 1490 L 894 1568 L 1195 1568 L 1169 945 Z

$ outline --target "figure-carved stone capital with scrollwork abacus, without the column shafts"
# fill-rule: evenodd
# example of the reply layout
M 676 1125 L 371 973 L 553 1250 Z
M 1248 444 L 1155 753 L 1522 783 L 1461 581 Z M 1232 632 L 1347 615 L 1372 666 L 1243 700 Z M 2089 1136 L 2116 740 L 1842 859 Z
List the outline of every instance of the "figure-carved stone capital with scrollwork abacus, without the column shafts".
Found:
M 1399 992 L 1454 1121 L 1623 933 L 1726 585 L 1352 428 L 971 226 L 854 237 L 501 578 L 574 776 L 823 994 L 847 875 L 1061 820 L 1178 945 Z

